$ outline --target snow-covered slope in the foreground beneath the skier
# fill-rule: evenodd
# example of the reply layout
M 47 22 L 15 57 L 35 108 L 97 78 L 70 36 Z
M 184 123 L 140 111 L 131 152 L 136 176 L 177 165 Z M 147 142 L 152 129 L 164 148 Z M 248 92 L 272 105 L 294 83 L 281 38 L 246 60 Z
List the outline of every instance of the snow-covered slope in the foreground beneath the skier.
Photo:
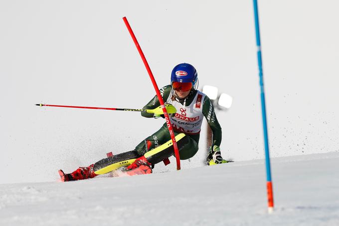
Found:
M 339 153 L 70 183 L 0 185 L 0 225 L 338 226 Z

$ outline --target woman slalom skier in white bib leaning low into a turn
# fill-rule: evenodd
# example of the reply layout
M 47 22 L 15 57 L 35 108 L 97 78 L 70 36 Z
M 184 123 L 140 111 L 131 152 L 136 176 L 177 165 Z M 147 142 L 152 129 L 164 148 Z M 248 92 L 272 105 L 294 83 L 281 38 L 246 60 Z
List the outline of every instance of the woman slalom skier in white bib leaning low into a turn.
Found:
M 195 68 L 188 63 L 176 65 L 170 78 L 170 85 L 160 89 L 160 93 L 167 103 L 169 118 L 174 130 L 175 140 L 179 149 L 180 160 L 186 160 L 198 151 L 200 128 L 205 117 L 213 132 L 213 141 L 207 155 L 207 164 L 226 163 L 220 154 L 221 127 L 215 116 L 210 99 L 197 90 L 198 78 Z M 155 96 L 143 109 L 155 109 L 160 106 Z M 174 109 L 174 108 L 175 109 Z M 173 111 L 174 109 L 174 111 Z M 177 111 L 177 112 L 176 112 Z M 164 117 L 164 114 L 142 112 L 147 118 Z M 119 168 L 130 175 L 152 173 L 155 164 L 164 161 L 174 154 L 167 124 L 165 123 L 157 132 L 147 137 L 133 151 L 117 154 L 98 161 L 89 167 L 80 167 L 70 174 L 59 170 L 62 181 L 75 181 L 93 178 L 100 174 L 109 173 Z M 141 173 L 135 172 L 140 169 Z

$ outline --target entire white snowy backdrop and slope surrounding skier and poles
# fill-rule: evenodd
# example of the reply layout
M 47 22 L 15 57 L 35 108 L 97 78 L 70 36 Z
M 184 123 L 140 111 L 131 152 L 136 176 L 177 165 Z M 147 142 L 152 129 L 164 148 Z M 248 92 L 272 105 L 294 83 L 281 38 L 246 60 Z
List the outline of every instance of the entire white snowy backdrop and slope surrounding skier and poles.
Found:
M 0 225 L 339 225 L 339 2 L 259 0 L 276 211 L 266 174 L 252 1 L 0 1 Z M 154 174 L 58 183 L 134 149 L 162 119 L 136 112 L 193 64 L 233 105 L 217 112 L 222 155 Z M 205 128 L 202 128 L 205 131 Z M 280 157 L 280 158 L 278 158 Z M 166 172 L 166 173 L 162 173 Z

